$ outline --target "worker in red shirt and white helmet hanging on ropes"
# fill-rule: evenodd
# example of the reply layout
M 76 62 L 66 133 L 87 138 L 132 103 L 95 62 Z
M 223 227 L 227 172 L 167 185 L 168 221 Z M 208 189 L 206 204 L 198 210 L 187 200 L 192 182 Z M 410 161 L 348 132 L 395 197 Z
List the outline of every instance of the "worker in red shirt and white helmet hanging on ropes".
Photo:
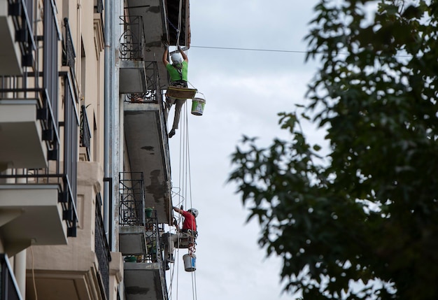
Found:
M 198 216 L 198 210 L 196 208 L 190 208 L 189 210 L 185 211 L 176 207 L 174 207 L 174 210 L 176 211 L 176 213 L 183 215 L 184 222 L 183 228 L 180 232 L 177 232 L 176 234 L 163 234 L 164 258 L 166 259 L 166 263 L 174 262 L 175 243 L 178 243 L 180 235 L 188 235 L 193 239 L 195 239 L 197 236 L 196 217 Z

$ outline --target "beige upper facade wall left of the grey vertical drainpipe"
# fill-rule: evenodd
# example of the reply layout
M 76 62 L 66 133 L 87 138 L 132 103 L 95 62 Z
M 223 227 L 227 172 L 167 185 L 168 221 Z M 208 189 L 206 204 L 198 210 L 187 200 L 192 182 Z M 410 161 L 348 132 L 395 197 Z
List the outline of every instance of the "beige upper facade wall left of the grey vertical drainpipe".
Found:
M 94 13 L 94 1 L 57 0 L 59 24 L 69 19 L 76 51 L 75 84 L 90 122 L 91 161 L 104 163 L 104 24 Z M 63 29 L 64 30 L 64 29 Z M 61 57 L 61 56 L 59 56 Z M 80 105 L 78 106 L 78 111 Z M 97 129 L 94 131 L 94 124 Z

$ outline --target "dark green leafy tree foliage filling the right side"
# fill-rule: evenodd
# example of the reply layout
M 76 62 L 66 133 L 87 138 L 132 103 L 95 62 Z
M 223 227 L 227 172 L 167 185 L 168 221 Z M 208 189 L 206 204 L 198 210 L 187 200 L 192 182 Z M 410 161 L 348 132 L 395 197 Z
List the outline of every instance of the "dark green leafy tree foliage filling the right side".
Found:
M 288 292 L 438 299 L 438 3 L 321 0 L 315 11 L 306 59 L 321 67 L 305 105 L 279 114 L 292 138 L 262 148 L 244 137 L 229 180 L 260 245 L 283 258 Z M 306 141 L 303 118 L 327 129 L 328 150 Z

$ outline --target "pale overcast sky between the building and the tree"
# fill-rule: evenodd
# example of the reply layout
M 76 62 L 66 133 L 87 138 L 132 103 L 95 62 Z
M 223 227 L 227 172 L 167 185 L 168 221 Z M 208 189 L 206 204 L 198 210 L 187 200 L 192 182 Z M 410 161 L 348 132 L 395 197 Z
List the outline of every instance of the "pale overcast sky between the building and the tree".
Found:
M 274 136 L 288 137 L 278 127 L 277 113 L 303 103 L 306 85 L 316 73 L 314 62 L 304 64 L 303 53 L 316 3 L 190 0 L 188 77 L 204 94 L 206 106 L 204 115 L 191 115 L 187 101 L 188 113 L 181 115 L 180 130 L 169 141 L 173 192 L 181 188 L 185 209 L 191 201 L 199 210 L 197 271 L 184 271 L 187 250 L 180 250 L 173 278 L 167 271 L 171 299 L 294 299 L 281 295 L 281 261 L 266 259 L 257 245 L 260 227 L 246 224 L 248 210 L 236 187 L 226 181 L 232 171 L 230 155 L 243 134 L 260 137 L 260 145 L 268 145 Z M 185 127 L 187 142 L 181 141 Z M 306 133 L 311 141 L 323 137 L 311 129 Z M 175 195 L 174 205 L 178 199 Z

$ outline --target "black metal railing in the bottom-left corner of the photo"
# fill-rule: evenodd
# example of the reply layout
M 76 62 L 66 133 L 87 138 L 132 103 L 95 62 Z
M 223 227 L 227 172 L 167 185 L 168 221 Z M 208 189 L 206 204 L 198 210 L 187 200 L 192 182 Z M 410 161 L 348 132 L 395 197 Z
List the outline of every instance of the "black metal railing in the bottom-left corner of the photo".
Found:
M 8 255 L 0 254 L 0 299 L 21 300 L 20 290 L 10 267 Z

